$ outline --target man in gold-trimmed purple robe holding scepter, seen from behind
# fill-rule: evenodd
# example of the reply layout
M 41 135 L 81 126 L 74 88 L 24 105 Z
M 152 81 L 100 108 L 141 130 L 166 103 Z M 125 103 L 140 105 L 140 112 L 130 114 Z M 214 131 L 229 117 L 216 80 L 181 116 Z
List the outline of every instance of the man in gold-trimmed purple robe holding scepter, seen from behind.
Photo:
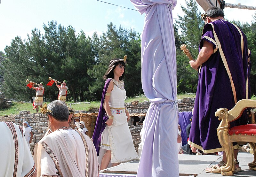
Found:
M 244 33 L 224 20 L 220 8 L 209 8 L 202 18 L 205 26 L 199 54 L 196 60 L 189 62 L 192 68 L 199 68 L 199 80 L 188 144 L 193 152 L 199 149 L 207 154 L 223 151 L 217 136 L 220 121 L 215 117 L 216 110 L 230 110 L 237 101 L 250 99 L 250 50 Z M 243 124 L 246 124 L 245 116 L 231 122 L 231 127 Z M 237 147 L 234 145 L 234 149 Z M 237 153 L 235 150 L 235 160 Z M 222 161 L 227 162 L 225 153 Z M 220 166 L 207 171 L 220 173 Z M 236 168 L 239 170 L 238 162 Z

